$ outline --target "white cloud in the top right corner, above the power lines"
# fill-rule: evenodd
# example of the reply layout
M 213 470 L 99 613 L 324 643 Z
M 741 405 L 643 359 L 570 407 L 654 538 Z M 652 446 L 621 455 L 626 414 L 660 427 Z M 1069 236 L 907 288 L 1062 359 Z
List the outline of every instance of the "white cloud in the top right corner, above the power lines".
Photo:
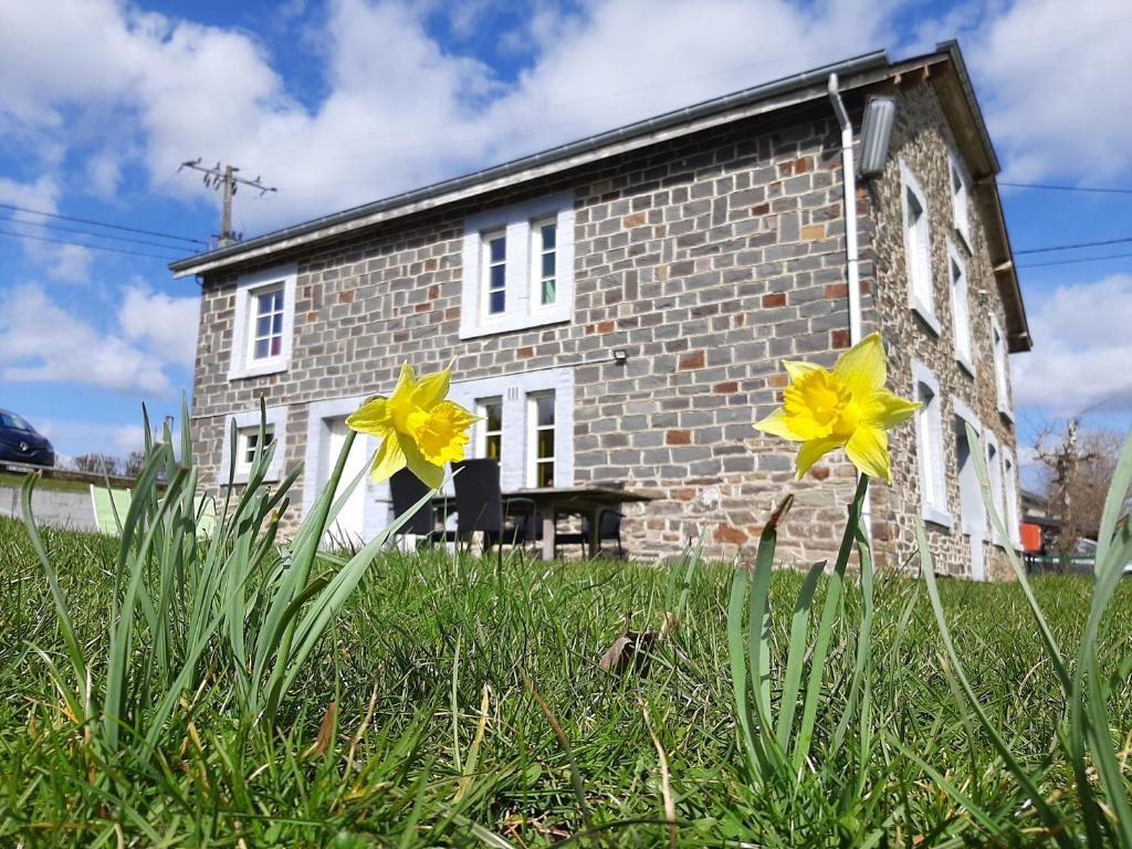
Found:
M 1017 0 L 972 19 L 968 61 L 1012 179 L 1132 172 L 1127 0 Z

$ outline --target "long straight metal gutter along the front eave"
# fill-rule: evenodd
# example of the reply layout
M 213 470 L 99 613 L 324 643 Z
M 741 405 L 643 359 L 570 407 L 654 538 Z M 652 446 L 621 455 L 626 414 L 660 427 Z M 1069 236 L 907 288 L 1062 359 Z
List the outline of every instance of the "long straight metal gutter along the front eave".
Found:
M 314 241 L 315 238 L 321 238 L 323 233 L 320 233 L 320 231 L 341 228 L 334 233 L 327 233 L 337 235 L 338 233 L 355 229 L 357 226 L 366 226 L 374 223 L 367 221 L 367 218 L 372 216 L 384 214 L 383 220 L 388 220 L 391 217 L 396 217 L 397 215 L 418 212 L 421 208 L 428 208 L 428 206 L 436 206 L 439 205 L 439 203 L 445 203 L 451 199 L 457 199 L 455 196 L 458 196 L 460 192 L 466 192 L 465 196 L 471 194 L 481 194 L 479 191 L 473 191 L 480 187 L 482 187 L 481 191 L 489 191 L 492 188 L 496 188 L 492 183 L 508 177 L 514 177 L 528 171 L 533 171 L 539 168 L 550 166 L 558 163 L 574 165 L 577 163 L 571 162 L 571 160 L 599 152 L 602 148 L 611 148 L 619 144 L 646 138 L 663 132 L 664 130 L 670 130 L 683 125 L 689 125 L 695 121 L 741 109 L 744 106 L 751 106 L 761 101 L 766 101 L 779 95 L 786 95 L 791 92 L 805 89 L 806 87 L 817 86 L 818 93 L 824 94 L 826 80 L 829 79 L 830 74 L 847 76 L 880 68 L 886 69 L 887 67 L 889 58 L 885 51 L 876 50 L 871 53 L 864 53 L 852 59 L 834 62 L 822 68 L 804 71 L 801 74 L 795 74 L 789 77 L 782 77 L 781 79 L 745 88 L 743 91 L 735 92 L 734 94 L 723 95 L 722 97 L 703 101 L 672 112 L 666 112 L 664 114 L 655 118 L 649 118 L 643 121 L 626 125 L 625 127 L 620 127 L 615 130 L 600 132 L 577 142 L 571 142 L 541 153 L 513 160 L 512 162 L 500 165 L 482 169 L 463 177 L 445 180 L 420 189 L 406 191 L 401 195 L 394 195 L 393 197 L 384 198 L 371 204 L 352 207 L 343 212 L 314 218 L 311 221 L 284 228 L 282 230 L 276 230 L 271 233 L 265 233 L 264 235 L 249 239 L 245 242 L 239 242 L 238 245 L 179 259 L 174 263 L 170 263 L 169 268 L 175 276 L 182 277 L 194 273 L 220 268 L 241 259 L 250 259 L 256 255 L 266 255 L 272 252 L 271 249 L 273 246 L 277 246 L 281 242 L 291 242 L 286 247 L 293 247 L 294 245 Z M 428 204 L 430 200 L 436 203 Z M 351 224 L 354 226 L 349 226 Z M 316 233 L 318 233 L 318 235 L 314 235 Z M 303 237 L 311 238 L 303 239 Z

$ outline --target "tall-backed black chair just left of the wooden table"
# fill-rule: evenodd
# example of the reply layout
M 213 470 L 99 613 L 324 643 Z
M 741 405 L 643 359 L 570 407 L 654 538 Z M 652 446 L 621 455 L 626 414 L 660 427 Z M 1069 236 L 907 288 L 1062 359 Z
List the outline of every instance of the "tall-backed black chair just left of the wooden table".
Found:
M 507 514 L 504 513 L 498 460 L 464 460 L 453 463 L 452 470 L 456 487 L 456 539 L 466 542 L 479 531 L 483 534 L 484 549 L 534 539 L 529 535 L 539 524 L 530 518 L 534 516 L 534 501 L 508 498 Z M 516 517 L 520 521 L 515 521 Z

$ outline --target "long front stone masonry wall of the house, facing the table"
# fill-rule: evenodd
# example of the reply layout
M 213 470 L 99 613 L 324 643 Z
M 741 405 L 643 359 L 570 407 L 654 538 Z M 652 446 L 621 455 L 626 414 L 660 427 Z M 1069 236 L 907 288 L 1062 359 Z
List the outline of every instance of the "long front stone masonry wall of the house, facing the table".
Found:
M 225 414 L 259 396 L 290 408 L 290 468 L 305 454 L 310 402 L 388 391 L 402 361 L 431 370 L 455 355 L 457 378 L 472 379 L 624 348 L 625 366 L 575 371 L 575 480 L 657 496 L 628 508 L 629 550 L 669 556 L 705 533 L 712 556 L 749 555 L 767 511 L 792 491 L 783 556 L 829 557 L 851 469 L 833 458 L 814 472 L 822 483 L 795 484 L 791 446 L 752 422 L 778 403 L 780 358 L 829 365 L 848 345 L 838 142 L 822 103 L 276 258 L 271 266 L 298 264 L 293 355 L 278 375 L 229 383 L 233 290 L 257 267 L 209 275 L 196 460 L 217 471 Z M 464 216 L 566 188 L 575 320 L 461 341 Z

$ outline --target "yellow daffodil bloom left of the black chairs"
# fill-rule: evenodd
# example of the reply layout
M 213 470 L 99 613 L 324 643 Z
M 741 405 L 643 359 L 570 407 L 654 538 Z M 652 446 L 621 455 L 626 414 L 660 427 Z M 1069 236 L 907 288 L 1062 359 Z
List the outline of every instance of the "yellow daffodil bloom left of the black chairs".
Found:
M 409 466 L 436 489 L 444 464 L 464 458 L 466 431 L 478 417 L 445 400 L 451 381 L 451 367 L 418 380 L 411 366 L 402 366 L 389 397 L 370 398 L 346 419 L 351 430 L 381 439 L 369 472 L 375 483 Z

